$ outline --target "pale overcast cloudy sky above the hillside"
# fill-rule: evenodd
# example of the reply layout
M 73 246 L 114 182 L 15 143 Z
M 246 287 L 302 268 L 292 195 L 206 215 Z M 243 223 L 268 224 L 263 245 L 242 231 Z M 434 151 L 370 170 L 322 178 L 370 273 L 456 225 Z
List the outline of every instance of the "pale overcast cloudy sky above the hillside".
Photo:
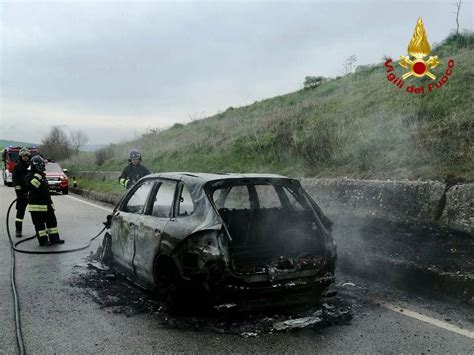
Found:
M 0 139 L 52 125 L 133 138 L 406 54 L 455 29 L 448 1 L 0 1 Z M 463 1 L 461 28 L 473 29 Z

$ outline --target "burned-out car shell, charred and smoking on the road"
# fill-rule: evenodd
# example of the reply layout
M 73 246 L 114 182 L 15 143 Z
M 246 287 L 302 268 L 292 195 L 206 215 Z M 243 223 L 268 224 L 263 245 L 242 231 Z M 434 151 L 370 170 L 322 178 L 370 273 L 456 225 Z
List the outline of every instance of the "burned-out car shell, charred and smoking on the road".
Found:
M 148 175 L 122 197 L 108 226 L 105 258 L 167 301 L 191 292 L 213 303 L 281 292 L 316 299 L 334 282 L 331 221 L 283 176 Z

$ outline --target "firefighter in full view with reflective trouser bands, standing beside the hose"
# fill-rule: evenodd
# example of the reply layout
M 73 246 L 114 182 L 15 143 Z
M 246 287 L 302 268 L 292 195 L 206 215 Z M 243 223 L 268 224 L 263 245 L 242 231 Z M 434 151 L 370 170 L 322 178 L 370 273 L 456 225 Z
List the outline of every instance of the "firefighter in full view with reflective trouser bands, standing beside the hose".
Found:
M 28 186 L 28 211 L 31 213 L 40 246 L 64 243 L 64 240 L 59 238 L 54 205 L 44 174 L 45 165 L 43 158 L 35 155 L 31 158 L 31 171 L 25 179 Z

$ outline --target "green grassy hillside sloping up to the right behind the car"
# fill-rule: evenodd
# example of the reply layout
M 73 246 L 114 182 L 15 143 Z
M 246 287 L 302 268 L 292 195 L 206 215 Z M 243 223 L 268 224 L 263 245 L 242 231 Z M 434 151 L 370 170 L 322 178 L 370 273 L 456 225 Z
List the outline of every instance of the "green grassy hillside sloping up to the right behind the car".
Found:
M 301 90 L 228 108 L 175 124 L 123 145 L 106 148 L 98 167 L 93 155 L 68 165 L 119 170 L 131 147 L 153 171 L 274 172 L 291 176 L 455 179 L 472 181 L 474 36 L 451 36 L 433 50 L 441 78 L 449 58 L 454 74 L 439 90 L 409 94 L 386 79 L 383 63 L 359 67 L 316 89 Z M 395 64 L 395 74 L 405 70 Z M 316 73 L 317 74 L 317 73 Z

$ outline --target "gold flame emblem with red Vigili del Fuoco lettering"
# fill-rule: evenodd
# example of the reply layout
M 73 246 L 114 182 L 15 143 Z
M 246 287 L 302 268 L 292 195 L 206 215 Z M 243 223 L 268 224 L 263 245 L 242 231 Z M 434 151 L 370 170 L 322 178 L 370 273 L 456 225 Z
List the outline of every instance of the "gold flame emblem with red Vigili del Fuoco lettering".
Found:
M 408 69 L 401 78 L 397 77 L 394 74 L 394 67 L 392 65 L 392 59 L 388 58 L 385 61 L 385 67 L 387 68 L 387 80 L 399 89 L 403 89 L 405 86 L 405 81 L 407 78 L 414 76 L 417 78 L 422 78 L 425 75 L 429 77 L 433 82 L 421 86 L 417 85 L 407 85 L 406 91 L 414 94 L 424 94 L 426 92 L 432 92 L 434 90 L 440 89 L 443 85 L 449 80 L 449 77 L 453 74 L 454 69 L 454 60 L 449 59 L 446 70 L 443 73 L 443 76 L 437 79 L 437 76 L 433 69 L 435 69 L 440 61 L 438 56 L 429 56 L 431 52 L 430 43 L 428 42 L 428 37 L 426 36 L 425 26 L 423 26 L 423 21 L 421 17 L 418 19 L 415 27 L 415 32 L 413 37 L 408 44 L 408 56 L 400 56 L 399 65 L 405 69 Z M 428 57 L 428 59 L 426 59 Z

